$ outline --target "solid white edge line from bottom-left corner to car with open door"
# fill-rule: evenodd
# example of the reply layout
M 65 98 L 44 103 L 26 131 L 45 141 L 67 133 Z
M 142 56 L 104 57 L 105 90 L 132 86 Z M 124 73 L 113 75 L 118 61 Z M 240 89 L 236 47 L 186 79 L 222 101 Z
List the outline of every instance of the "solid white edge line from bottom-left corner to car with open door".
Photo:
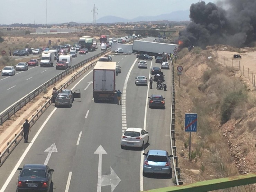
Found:
M 26 150 L 24 151 L 24 153 L 21 155 L 19 161 L 17 162 L 17 164 L 15 165 L 15 167 L 13 168 L 12 172 L 10 173 L 9 177 L 7 178 L 6 182 L 3 184 L 0 192 L 4 192 L 8 186 L 8 184 L 10 183 L 12 177 L 16 174 L 17 169 L 19 168 L 20 164 L 22 163 L 22 161 L 24 160 L 24 158 L 26 157 L 26 155 L 29 152 L 29 149 L 32 147 L 32 145 L 34 144 L 36 138 L 38 137 L 38 135 L 40 134 L 40 132 L 43 130 L 44 126 L 46 125 L 46 123 L 49 121 L 49 119 L 52 117 L 53 113 L 56 111 L 57 108 L 54 108 L 53 111 L 50 113 L 50 115 L 47 117 L 47 119 L 45 120 L 45 122 L 43 123 L 43 125 L 39 128 L 39 130 L 37 131 L 36 135 L 34 136 L 34 138 L 31 140 L 31 143 L 28 145 L 28 147 L 26 148 Z

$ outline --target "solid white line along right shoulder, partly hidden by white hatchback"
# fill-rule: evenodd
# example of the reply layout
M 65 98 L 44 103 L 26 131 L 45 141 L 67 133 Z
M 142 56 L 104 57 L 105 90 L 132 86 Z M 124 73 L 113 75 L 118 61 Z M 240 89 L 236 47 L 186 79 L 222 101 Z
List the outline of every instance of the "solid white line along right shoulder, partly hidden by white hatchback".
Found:
M 152 60 L 150 64 L 150 68 L 152 68 Z M 150 72 L 148 75 L 148 79 L 150 79 Z M 144 113 L 144 126 L 143 129 L 146 130 L 146 122 L 147 122 L 147 107 L 148 107 L 148 92 L 149 92 L 149 83 L 148 83 L 148 89 L 147 89 L 147 95 L 146 95 L 146 104 L 145 104 L 145 113 Z M 141 156 L 140 156 L 140 174 L 139 174 L 139 185 L 140 185 L 140 191 L 143 190 L 143 163 L 144 163 L 144 149 L 141 150 Z

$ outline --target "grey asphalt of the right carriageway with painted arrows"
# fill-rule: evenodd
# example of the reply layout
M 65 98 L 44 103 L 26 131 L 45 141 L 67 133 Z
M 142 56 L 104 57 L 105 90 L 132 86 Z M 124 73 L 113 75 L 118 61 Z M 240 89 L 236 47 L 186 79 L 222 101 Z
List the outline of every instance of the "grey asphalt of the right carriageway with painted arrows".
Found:
M 123 93 L 128 71 L 135 62 L 127 79 L 123 105 L 95 103 L 92 100 L 92 85 L 84 90 L 93 79 L 92 70 L 86 72 L 69 87 L 73 91 L 80 89 L 81 99 L 75 99 L 71 108 L 55 108 L 52 104 L 32 127 L 28 139 L 31 143 L 21 142 L 2 165 L 0 192 L 15 191 L 18 167 L 28 163 L 44 164 L 45 161 L 55 169 L 53 191 L 56 192 L 137 192 L 174 185 L 171 178 L 142 177 L 143 152 L 120 148 L 124 126 L 145 127 L 149 132 L 149 145 L 145 146 L 145 152 L 148 149 L 163 149 L 170 153 L 172 97 L 168 85 L 171 85 L 171 70 L 164 70 L 168 86 L 164 92 L 156 90 L 155 82 L 153 89 L 135 85 L 137 75 L 148 78 L 150 71 L 150 67 L 137 67 L 135 55 L 115 55 L 113 61 L 122 67 L 121 74 L 117 76 L 116 89 Z M 154 63 L 155 60 L 152 62 L 152 66 L 159 66 Z M 148 61 L 148 65 L 151 65 L 151 61 Z M 166 109 L 148 108 L 147 97 L 153 93 L 164 95 Z M 57 152 L 47 159 L 48 152 L 44 151 L 53 144 Z M 98 177 L 102 178 L 101 184 Z

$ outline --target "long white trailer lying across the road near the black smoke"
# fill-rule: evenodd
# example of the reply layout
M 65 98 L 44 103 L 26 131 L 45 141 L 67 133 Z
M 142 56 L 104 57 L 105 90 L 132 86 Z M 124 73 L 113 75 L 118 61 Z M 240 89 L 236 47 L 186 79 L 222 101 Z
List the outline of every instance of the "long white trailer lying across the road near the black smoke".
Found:
M 132 53 L 144 53 L 153 55 L 157 53 L 174 53 L 179 49 L 179 45 L 167 44 L 167 43 L 156 43 L 135 40 L 132 45 Z

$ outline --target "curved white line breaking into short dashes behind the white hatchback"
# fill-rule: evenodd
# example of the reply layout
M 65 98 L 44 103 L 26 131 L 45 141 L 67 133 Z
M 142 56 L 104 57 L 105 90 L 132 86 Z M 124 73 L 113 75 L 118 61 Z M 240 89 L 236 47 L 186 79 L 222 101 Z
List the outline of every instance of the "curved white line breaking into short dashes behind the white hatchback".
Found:
M 123 60 L 124 58 L 122 58 Z M 125 79 L 125 83 L 124 83 L 124 88 L 123 88 L 123 92 L 122 92 L 122 132 L 124 133 L 125 130 L 127 129 L 127 120 L 126 120 L 126 89 L 127 89 L 127 83 L 128 83 L 128 79 L 129 76 L 131 74 L 131 70 L 134 67 L 136 61 L 138 59 L 136 59 L 134 61 L 134 63 L 131 65 L 130 70 L 127 73 L 126 79 Z M 119 63 L 119 62 L 118 62 Z

